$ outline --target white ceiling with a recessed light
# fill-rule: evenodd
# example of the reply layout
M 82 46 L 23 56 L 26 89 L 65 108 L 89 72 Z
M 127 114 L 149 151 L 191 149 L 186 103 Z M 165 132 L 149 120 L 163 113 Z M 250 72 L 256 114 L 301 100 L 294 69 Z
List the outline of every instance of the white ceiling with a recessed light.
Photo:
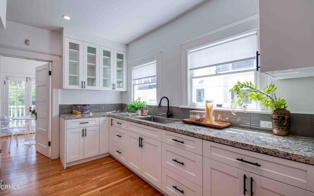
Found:
M 8 21 L 61 32 L 70 28 L 128 44 L 205 0 L 7 0 Z M 67 21 L 62 15 L 68 15 Z

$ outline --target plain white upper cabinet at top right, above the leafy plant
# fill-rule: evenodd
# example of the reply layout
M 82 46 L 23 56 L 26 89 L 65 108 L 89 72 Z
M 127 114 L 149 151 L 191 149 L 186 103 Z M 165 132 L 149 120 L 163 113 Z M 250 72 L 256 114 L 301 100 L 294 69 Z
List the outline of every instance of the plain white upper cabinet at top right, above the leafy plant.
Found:
M 262 72 L 314 66 L 313 8 L 313 0 L 260 0 Z

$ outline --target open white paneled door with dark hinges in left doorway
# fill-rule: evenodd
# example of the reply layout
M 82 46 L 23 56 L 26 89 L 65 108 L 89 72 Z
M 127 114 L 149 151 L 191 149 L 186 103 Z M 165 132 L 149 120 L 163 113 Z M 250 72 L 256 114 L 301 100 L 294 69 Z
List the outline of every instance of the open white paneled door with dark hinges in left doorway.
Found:
M 36 67 L 36 151 L 50 157 L 51 63 Z

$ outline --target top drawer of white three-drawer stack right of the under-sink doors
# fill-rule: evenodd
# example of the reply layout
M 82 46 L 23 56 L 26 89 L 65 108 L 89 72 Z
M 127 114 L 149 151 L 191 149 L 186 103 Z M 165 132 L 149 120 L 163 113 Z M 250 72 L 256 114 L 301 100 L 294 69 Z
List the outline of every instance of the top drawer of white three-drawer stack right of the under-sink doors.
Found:
M 193 138 L 171 131 L 163 131 L 162 142 L 202 155 L 203 140 L 199 138 Z

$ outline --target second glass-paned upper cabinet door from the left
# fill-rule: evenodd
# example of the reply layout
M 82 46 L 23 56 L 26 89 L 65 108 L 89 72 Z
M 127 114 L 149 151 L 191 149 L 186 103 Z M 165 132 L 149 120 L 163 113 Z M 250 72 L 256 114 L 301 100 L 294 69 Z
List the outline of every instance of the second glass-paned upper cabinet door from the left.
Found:
M 84 89 L 99 90 L 99 46 L 84 42 Z

